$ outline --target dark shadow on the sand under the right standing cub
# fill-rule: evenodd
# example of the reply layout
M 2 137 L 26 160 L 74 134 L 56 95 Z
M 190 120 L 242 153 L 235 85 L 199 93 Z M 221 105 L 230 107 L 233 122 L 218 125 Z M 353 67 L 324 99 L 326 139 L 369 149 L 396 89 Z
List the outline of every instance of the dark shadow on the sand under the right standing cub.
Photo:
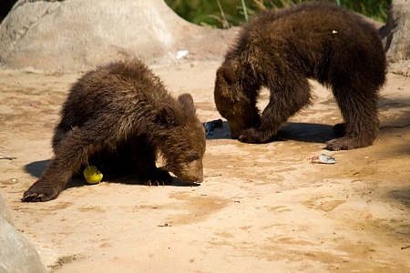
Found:
M 230 126 L 223 121 L 222 127 L 213 128 L 207 139 L 231 139 Z M 316 123 L 288 122 L 267 142 L 294 140 L 308 143 L 323 143 L 336 138 L 333 126 Z

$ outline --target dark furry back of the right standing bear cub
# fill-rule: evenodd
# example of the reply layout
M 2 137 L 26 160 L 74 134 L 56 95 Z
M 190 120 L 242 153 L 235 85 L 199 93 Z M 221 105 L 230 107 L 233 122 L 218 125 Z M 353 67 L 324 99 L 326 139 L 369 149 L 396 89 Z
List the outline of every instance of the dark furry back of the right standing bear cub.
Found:
M 321 83 L 336 75 L 376 67 L 384 81 L 384 48 L 377 30 L 361 15 L 325 2 L 307 2 L 279 11 L 265 11 L 244 25 L 226 59 L 239 57 L 251 66 L 272 67 L 281 78 L 300 71 Z M 341 65 L 343 64 L 343 65 Z M 280 75 L 283 73 L 283 75 Z

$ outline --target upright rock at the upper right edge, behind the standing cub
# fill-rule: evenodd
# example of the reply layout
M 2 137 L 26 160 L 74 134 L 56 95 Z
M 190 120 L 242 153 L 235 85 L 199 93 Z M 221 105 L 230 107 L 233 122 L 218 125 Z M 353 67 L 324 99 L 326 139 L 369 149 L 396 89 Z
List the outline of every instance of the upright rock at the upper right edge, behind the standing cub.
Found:
M 410 72 L 410 1 L 393 0 L 381 34 L 390 68 Z

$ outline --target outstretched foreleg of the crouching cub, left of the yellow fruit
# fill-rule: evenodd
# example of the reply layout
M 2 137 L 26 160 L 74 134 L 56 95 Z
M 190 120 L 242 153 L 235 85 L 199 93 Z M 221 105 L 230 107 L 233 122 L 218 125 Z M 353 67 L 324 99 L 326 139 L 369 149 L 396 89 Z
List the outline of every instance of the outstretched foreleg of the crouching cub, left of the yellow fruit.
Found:
M 28 188 L 22 200 L 43 202 L 56 198 L 69 179 L 87 164 L 88 157 L 95 153 L 98 146 L 93 143 L 93 137 L 81 129 L 68 132 L 59 144 L 56 156 L 36 183 Z

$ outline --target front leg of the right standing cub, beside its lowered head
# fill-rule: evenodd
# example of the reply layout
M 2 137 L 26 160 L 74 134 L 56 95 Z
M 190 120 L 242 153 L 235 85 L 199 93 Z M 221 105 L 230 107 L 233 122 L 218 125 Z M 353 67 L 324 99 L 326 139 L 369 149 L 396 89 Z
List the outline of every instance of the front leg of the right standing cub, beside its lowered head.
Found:
M 294 76 L 292 83 L 271 86 L 270 89 L 270 102 L 263 110 L 258 125 L 243 130 L 239 137 L 242 142 L 262 143 L 269 140 L 290 116 L 311 104 L 311 88 L 302 76 Z

